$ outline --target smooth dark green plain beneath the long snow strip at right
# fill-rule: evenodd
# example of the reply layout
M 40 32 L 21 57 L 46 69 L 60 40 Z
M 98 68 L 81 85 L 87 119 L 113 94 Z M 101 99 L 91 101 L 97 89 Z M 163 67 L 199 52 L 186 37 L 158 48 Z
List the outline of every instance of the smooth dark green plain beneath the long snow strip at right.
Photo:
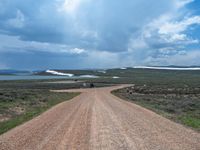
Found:
M 113 76 L 120 78 L 113 79 Z M 198 87 L 200 86 L 200 71 L 110 69 L 103 75 L 103 78 L 92 79 L 92 81 L 114 84 L 146 84 L 154 87 Z

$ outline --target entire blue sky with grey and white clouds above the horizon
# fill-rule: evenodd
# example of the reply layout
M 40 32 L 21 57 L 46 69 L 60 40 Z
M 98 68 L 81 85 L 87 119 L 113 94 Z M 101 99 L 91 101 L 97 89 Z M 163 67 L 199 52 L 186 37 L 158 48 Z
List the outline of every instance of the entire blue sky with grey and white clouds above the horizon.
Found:
M 0 0 L 0 69 L 200 65 L 199 0 Z

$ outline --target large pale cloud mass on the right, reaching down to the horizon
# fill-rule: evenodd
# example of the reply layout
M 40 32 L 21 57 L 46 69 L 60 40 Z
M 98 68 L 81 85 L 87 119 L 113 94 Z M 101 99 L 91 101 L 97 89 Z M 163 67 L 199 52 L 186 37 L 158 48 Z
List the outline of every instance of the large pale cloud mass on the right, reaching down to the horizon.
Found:
M 193 25 L 200 25 L 200 16 L 181 12 L 182 8 L 191 2 L 192 0 L 175 1 L 175 10 L 153 18 L 130 38 L 128 50 L 135 64 L 181 65 L 181 62 L 195 64 L 192 61 L 195 57 L 194 52 L 190 53 L 187 48 L 189 45 L 198 44 L 199 39 L 187 33 Z M 187 57 L 188 61 L 186 61 Z M 199 63 L 196 57 L 194 59 Z

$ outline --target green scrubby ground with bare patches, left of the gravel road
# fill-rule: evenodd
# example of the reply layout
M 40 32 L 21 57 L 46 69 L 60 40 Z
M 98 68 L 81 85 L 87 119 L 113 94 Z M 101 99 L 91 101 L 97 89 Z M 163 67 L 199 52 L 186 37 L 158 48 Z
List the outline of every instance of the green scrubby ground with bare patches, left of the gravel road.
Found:
M 0 134 L 78 94 L 35 89 L 0 89 Z

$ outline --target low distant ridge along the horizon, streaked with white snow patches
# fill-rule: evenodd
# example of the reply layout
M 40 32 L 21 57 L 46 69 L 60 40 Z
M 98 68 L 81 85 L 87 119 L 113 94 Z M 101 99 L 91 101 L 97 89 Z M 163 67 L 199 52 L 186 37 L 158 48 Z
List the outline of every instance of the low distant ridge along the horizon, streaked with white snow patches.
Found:
M 60 76 L 81 76 L 81 75 L 93 75 L 98 76 L 106 74 L 109 70 L 127 70 L 127 69 L 152 69 L 152 70 L 185 70 L 185 71 L 198 71 L 200 66 L 134 66 L 134 67 L 123 67 L 123 68 L 110 68 L 110 69 L 78 69 L 78 70 L 37 70 L 37 71 L 26 71 L 26 70 L 12 70 L 3 69 L 0 70 L 0 75 L 60 75 Z

